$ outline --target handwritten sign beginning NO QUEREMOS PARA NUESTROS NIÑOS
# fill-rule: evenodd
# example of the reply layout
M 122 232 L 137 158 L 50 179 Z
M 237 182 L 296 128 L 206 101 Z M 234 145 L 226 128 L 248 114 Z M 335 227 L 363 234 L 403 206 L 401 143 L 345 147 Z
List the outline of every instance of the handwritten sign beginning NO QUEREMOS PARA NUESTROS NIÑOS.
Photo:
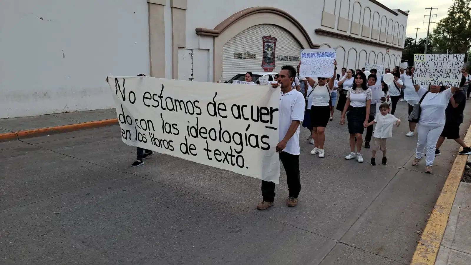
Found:
M 464 54 L 414 54 L 414 85 L 459 87 Z

